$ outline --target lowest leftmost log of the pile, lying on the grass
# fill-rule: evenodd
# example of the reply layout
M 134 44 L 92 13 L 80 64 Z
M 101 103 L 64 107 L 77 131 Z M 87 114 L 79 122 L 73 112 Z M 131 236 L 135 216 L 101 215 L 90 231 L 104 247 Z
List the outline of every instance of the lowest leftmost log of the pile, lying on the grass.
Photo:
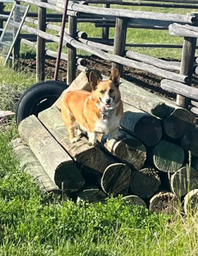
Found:
M 42 167 L 39 160 L 29 149 L 25 146 L 20 138 L 11 141 L 12 153 L 20 161 L 20 170 L 31 175 L 34 181 L 37 181 L 40 189 L 44 192 L 60 193 L 60 189 L 55 185 L 54 181 L 49 178 Z

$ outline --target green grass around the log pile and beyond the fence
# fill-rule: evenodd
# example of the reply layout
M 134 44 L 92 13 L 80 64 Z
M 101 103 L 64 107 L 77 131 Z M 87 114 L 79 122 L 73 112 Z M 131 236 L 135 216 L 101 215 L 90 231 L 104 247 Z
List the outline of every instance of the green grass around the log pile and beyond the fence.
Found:
M 153 11 L 153 8 L 133 8 Z M 186 13 L 184 9 L 159 12 Z M 34 11 L 32 7 L 32 11 Z M 193 11 L 193 10 L 192 10 Z M 101 29 L 80 24 L 78 29 L 100 37 Z M 110 30 L 113 38 L 114 30 Z M 182 43 L 167 31 L 129 29 L 127 42 Z M 57 49 L 57 44 L 48 44 Z M 137 49 L 156 57 L 180 58 L 181 50 Z M 22 52 L 30 49 L 22 47 Z M 32 51 L 32 50 L 31 50 Z M 0 109 L 15 111 L 19 95 L 36 82 L 34 74 L 16 73 L 0 60 Z M 74 204 L 46 196 L 19 171 L 10 140 L 17 137 L 14 118 L 0 127 L 0 256 L 197 256 L 198 213 L 174 216 L 150 213 L 126 205 L 121 198 L 106 204 Z

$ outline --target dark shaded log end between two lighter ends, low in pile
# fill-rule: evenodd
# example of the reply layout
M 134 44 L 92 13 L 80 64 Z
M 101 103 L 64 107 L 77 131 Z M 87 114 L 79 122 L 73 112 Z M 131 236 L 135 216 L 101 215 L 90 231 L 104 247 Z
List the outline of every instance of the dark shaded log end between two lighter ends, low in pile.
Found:
M 131 174 L 130 190 L 142 198 L 153 196 L 158 191 L 160 184 L 159 176 L 152 168 L 134 171 Z

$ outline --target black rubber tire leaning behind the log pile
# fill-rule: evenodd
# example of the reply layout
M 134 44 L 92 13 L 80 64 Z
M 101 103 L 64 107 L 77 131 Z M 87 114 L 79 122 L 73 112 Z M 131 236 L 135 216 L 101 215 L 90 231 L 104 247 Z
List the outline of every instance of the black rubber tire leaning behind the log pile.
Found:
M 49 108 L 68 88 L 59 81 L 42 81 L 32 85 L 20 97 L 16 107 L 16 124 L 31 116 L 38 116 L 39 112 Z

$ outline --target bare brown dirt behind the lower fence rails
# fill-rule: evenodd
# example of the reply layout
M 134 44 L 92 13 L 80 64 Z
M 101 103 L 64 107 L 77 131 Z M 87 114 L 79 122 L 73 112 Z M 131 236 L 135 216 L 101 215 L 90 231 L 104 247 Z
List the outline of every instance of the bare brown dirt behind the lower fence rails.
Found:
M 109 76 L 111 72 L 111 62 L 104 61 L 96 56 L 85 57 L 81 56 L 87 61 L 87 67 L 96 68 L 102 74 Z M 167 61 L 177 61 L 177 60 L 167 60 Z M 46 79 L 53 80 L 54 70 L 55 70 L 56 60 L 54 59 L 46 59 Z M 30 70 L 36 70 L 36 58 L 22 59 L 21 64 L 23 66 L 28 66 Z M 77 70 L 77 75 L 80 71 Z M 60 81 L 66 82 L 67 75 L 67 62 L 61 61 L 59 68 L 59 77 Z M 160 95 L 165 98 L 175 99 L 176 95 L 174 93 L 169 93 L 160 88 L 161 77 L 156 76 L 154 74 L 148 73 L 146 71 L 142 71 L 139 69 L 135 69 L 132 67 L 124 66 L 123 78 L 139 85 L 140 87 L 152 92 L 154 94 Z M 198 88 L 198 76 L 194 75 L 192 86 Z

